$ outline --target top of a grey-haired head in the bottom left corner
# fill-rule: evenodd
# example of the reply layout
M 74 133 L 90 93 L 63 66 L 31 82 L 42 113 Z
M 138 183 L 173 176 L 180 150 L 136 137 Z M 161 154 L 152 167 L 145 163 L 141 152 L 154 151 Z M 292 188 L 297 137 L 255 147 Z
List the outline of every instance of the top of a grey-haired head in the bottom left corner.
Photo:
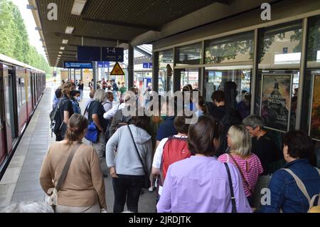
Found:
M 44 202 L 22 201 L 6 206 L 0 213 L 53 213 L 53 208 Z

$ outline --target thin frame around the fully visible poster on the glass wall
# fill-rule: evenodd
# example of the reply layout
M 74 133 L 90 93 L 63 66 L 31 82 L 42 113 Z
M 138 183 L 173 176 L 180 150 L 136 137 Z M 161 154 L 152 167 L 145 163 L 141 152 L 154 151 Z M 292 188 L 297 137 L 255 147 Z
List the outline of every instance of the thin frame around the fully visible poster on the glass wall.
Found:
M 264 126 L 266 129 L 269 129 L 269 130 L 274 130 L 274 131 L 277 131 L 277 132 L 289 132 L 290 130 L 290 123 L 291 123 L 291 102 L 292 102 L 292 85 L 293 85 L 293 74 L 292 73 L 277 73 L 277 74 L 270 74 L 270 73 L 265 73 L 265 74 L 262 74 L 261 75 L 261 93 L 260 93 L 260 117 L 262 115 L 262 94 L 263 94 L 263 82 L 265 80 L 265 76 L 266 75 L 269 75 L 269 76 L 276 76 L 276 75 L 290 75 L 290 93 L 289 93 L 289 114 L 288 114 L 288 127 L 287 127 L 287 131 L 284 131 L 284 130 L 279 130 L 279 129 L 276 129 L 274 127 L 269 127 L 269 126 Z

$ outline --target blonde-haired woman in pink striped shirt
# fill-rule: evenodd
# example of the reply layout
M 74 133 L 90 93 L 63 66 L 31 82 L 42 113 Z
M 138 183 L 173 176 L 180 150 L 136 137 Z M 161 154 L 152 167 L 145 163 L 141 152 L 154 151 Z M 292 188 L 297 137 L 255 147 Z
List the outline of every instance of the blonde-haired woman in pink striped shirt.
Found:
M 250 134 L 244 126 L 233 125 L 230 127 L 227 136 L 230 153 L 220 155 L 218 160 L 220 162 L 231 162 L 237 167 L 242 178 L 245 195 L 251 205 L 257 179 L 263 172 L 262 164 L 257 155 L 250 152 Z

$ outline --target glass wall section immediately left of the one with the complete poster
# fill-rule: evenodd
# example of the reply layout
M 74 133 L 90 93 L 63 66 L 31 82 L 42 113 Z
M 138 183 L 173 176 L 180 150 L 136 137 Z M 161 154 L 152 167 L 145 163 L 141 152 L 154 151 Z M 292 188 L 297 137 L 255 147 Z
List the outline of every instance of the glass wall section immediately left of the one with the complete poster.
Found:
M 217 65 L 206 67 L 205 70 L 203 94 L 206 95 L 206 101 L 211 101 L 213 91 L 223 90 L 227 81 L 237 84 L 238 94 L 242 90 L 250 93 L 253 32 L 206 41 L 205 45 L 206 64 Z

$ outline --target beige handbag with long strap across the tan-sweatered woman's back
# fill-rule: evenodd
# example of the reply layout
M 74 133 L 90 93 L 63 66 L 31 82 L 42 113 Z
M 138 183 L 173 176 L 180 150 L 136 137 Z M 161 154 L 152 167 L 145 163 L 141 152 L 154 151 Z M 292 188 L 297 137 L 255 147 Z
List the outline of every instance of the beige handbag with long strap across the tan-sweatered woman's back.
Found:
M 51 195 L 48 197 L 48 200 L 46 201 L 46 203 L 48 205 L 52 206 L 53 211 L 55 211 L 55 206 L 57 205 L 57 202 L 58 202 L 58 191 L 60 191 L 60 189 L 63 186 L 63 183 L 65 182 L 65 177 L 68 174 L 71 161 L 73 160 L 73 156 L 75 155 L 75 152 L 79 149 L 81 144 L 82 144 L 82 142 L 75 144 L 72 147 L 72 150 L 69 154 L 67 162 L 65 162 L 65 167 L 63 167 L 63 171 L 61 172 L 61 175 L 58 179 L 57 185 L 55 186 L 55 188 L 53 190 L 49 189 L 49 191 L 48 191 L 48 193 L 51 193 Z

